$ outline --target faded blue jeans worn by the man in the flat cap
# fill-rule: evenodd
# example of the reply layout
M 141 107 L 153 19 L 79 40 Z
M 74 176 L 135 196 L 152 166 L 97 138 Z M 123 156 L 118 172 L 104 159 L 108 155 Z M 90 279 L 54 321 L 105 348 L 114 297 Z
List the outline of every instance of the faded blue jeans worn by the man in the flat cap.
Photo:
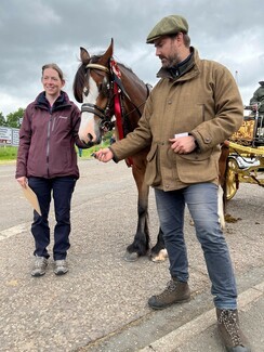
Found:
M 188 281 L 188 259 L 183 232 L 187 204 L 196 236 L 203 250 L 214 304 L 219 309 L 236 309 L 236 281 L 219 222 L 217 186 L 213 183 L 199 183 L 171 192 L 155 190 L 155 196 L 171 276 L 181 282 Z

